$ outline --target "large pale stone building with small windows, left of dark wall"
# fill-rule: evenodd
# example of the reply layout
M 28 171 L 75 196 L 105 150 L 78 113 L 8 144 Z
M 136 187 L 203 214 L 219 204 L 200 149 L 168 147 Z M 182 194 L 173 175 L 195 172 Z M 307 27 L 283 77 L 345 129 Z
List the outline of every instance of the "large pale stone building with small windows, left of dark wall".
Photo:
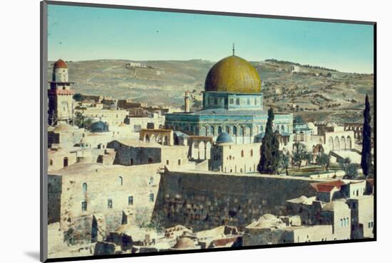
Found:
M 60 222 L 63 232 L 91 242 L 124 220 L 150 222 L 160 183 L 158 171 L 159 164 L 76 163 L 50 172 L 48 222 Z

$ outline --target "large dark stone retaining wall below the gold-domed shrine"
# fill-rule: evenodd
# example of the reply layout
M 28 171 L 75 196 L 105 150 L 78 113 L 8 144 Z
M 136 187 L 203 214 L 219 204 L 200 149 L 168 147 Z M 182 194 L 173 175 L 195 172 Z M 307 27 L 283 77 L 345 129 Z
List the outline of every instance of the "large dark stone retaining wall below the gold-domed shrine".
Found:
M 205 230 L 222 224 L 242 228 L 265 213 L 284 215 L 286 200 L 315 195 L 309 178 L 165 171 L 154 218 L 170 227 Z

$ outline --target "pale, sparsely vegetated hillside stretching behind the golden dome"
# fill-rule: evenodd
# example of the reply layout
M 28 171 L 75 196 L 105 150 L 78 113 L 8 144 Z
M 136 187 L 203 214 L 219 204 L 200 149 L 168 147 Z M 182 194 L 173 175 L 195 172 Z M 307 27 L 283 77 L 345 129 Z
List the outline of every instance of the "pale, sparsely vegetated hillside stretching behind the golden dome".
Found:
M 138 102 L 180 106 L 185 90 L 200 94 L 214 65 L 207 60 L 67 61 L 74 90 L 83 94 L 131 98 Z M 51 77 L 52 63 L 48 64 Z M 252 62 L 262 78 L 265 107 L 298 112 L 321 122 L 359 122 L 366 93 L 373 104 L 373 75 L 340 73 L 278 60 Z

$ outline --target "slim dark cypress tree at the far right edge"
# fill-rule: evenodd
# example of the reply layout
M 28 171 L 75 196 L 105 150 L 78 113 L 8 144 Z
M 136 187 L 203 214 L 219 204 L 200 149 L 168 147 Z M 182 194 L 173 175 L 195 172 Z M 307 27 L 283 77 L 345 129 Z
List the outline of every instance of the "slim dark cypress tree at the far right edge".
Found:
M 365 109 L 363 110 L 363 131 L 362 131 L 362 154 L 361 168 L 366 178 L 371 171 L 371 114 L 368 95 L 365 99 Z

